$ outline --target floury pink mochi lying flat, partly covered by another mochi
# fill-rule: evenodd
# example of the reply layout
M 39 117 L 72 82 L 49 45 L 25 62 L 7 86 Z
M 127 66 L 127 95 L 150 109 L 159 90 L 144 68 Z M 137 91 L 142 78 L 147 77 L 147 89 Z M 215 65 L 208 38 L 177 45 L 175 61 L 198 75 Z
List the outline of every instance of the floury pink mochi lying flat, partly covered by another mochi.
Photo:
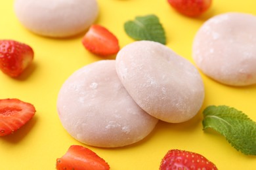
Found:
M 146 137 L 158 119 L 133 101 L 121 84 L 115 60 L 91 63 L 75 71 L 58 94 L 58 116 L 81 143 L 118 147 Z

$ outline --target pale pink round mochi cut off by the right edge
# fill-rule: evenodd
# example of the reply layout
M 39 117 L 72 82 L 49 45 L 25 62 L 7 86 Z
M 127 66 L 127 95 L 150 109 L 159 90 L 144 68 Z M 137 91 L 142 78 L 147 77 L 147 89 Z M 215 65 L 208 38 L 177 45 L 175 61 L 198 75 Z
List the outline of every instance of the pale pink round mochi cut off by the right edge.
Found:
M 256 17 L 228 12 L 196 33 L 192 55 L 202 72 L 230 86 L 256 84 Z

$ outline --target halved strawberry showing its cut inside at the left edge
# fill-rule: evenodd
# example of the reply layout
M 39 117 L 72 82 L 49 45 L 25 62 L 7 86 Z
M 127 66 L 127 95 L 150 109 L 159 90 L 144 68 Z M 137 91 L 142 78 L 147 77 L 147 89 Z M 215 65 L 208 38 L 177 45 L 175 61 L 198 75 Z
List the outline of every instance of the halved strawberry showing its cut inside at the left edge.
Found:
M 0 136 L 9 135 L 24 126 L 35 114 L 32 104 L 19 99 L 0 99 Z

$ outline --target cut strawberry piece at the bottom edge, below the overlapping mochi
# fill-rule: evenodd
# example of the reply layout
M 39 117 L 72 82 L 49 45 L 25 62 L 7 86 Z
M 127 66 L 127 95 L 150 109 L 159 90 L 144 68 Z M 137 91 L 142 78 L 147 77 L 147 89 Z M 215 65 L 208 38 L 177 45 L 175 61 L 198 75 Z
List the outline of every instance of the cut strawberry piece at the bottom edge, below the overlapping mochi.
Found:
M 107 170 L 110 166 L 106 161 L 100 158 L 95 152 L 79 145 L 72 145 L 68 152 L 56 160 L 56 169 L 66 170 Z

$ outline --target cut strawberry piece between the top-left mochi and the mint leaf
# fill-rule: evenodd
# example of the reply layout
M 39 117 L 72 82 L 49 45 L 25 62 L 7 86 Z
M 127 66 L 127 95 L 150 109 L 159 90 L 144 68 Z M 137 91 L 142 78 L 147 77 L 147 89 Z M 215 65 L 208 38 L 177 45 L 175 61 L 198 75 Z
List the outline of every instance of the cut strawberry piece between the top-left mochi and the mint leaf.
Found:
M 91 25 L 82 39 L 82 44 L 87 50 L 99 56 L 110 56 L 119 51 L 116 36 L 101 25 Z

